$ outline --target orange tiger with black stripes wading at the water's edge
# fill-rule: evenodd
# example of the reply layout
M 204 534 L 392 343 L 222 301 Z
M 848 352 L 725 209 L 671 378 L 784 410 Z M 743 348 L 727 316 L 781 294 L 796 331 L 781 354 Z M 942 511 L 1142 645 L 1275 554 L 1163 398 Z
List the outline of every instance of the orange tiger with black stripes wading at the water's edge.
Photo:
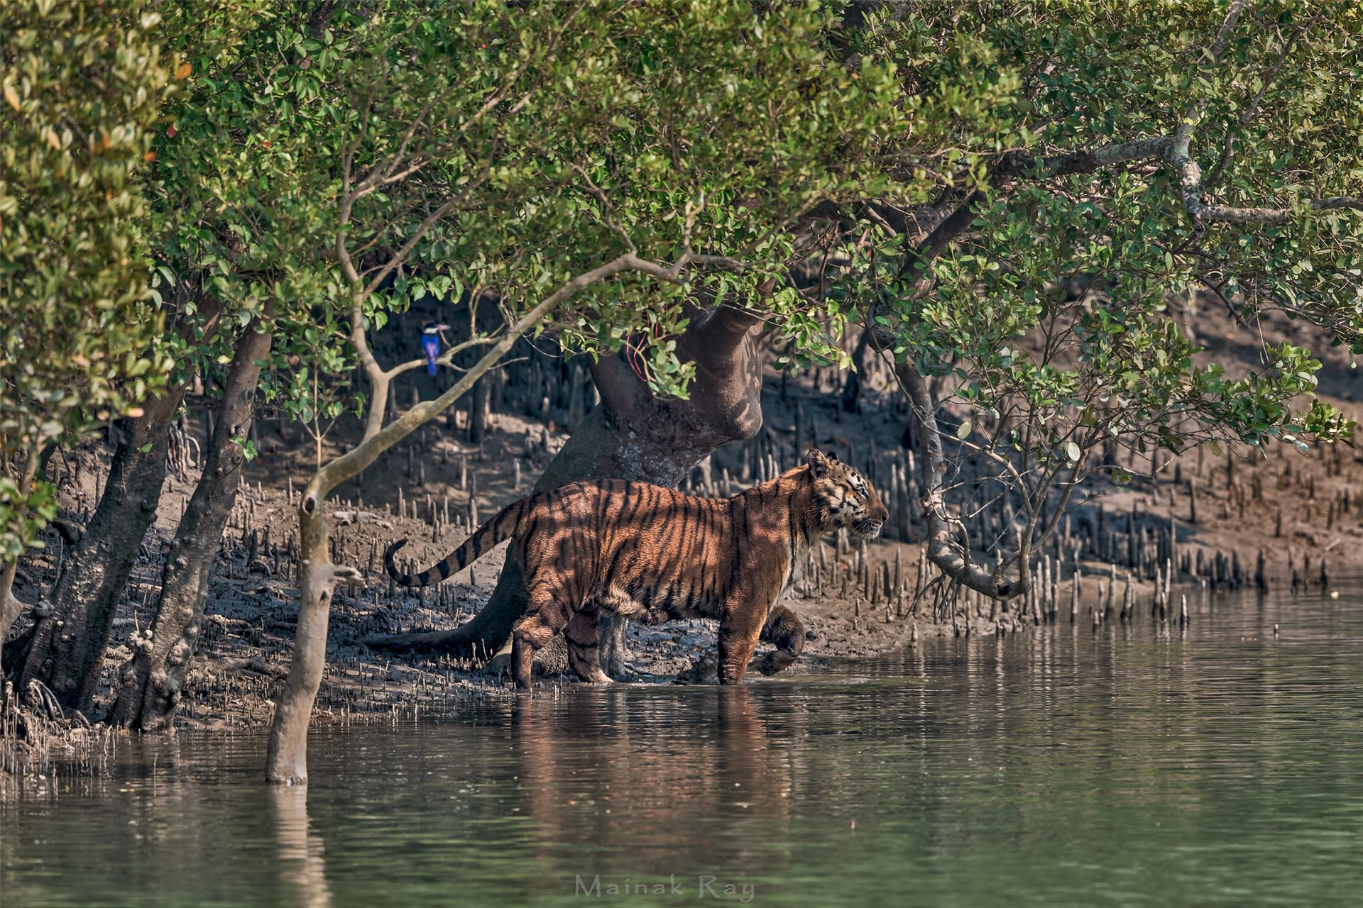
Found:
M 759 640 L 777 652 L 763 674 L 793 663 L 804 628 L 778 602 L 823 534 L 846 528 L 875 538 L 889 510 L 871 483 L 833 452 L 810 449 L 806 463 L 731 498 L 684 496 L 643 482 L 572 482 L 507 505 L 444 561 L 412 576 L 383 553 L 388 576 L 428 587 L 511 539 L 525 568 L 527 606 L 512 629 L 517 687 L 529 690 L 537 649 L 567 638 L 568 666 L 589 683 L 607 683 L 597 653 L 602 613 L 641 623 L 718 618 L 718 681 L 743 681 Z

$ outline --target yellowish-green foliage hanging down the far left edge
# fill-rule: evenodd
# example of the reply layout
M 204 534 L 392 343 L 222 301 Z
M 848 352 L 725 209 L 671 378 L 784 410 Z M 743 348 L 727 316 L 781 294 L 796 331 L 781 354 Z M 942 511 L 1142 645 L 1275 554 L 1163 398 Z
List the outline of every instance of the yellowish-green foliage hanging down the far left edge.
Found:
M 50 489 L 8 467 L 165 380 L 140 177 L 187 72 L 157 25 L 150 8 L 0 7 L 0 555 L 55 513 Z

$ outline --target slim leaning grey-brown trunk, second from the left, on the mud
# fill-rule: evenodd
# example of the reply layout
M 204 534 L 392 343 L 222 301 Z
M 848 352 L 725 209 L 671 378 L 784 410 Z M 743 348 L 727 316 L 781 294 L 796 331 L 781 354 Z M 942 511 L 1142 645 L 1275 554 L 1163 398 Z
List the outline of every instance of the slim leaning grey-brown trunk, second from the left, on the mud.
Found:
M 153 731 L 165 728 L 174 717 L 199 643 L 209 573 L 237 500 L 245 461 L 237 440 L 251 429 L 260 361 L 270 354 L 271 340 L 273 335 L 260 329 L 258 319 L 237 342 L 214 414 L 203 474 L 166 554 L 157 615 L 149 636 L 131 641 L 132 659 L 119 671 L 119 698 L 109 715 L 114 726 Z

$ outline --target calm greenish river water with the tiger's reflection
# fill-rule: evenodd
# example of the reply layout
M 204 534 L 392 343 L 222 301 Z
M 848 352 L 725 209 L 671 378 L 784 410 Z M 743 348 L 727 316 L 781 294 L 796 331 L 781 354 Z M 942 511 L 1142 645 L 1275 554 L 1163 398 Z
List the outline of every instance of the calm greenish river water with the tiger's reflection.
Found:
M 319 730 L 307 792 L 135 741 L 0 803 L 0 905 L 1356 905 L 1360 656 L 1363 595 L 1250 595 Z

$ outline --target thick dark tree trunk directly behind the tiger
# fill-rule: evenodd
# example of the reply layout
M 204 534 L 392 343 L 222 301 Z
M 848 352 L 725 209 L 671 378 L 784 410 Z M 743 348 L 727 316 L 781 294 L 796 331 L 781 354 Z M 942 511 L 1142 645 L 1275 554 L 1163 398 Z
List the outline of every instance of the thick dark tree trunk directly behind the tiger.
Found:
M 592 370 L 601 403 L 574 430 L 534 490 L 598 478 L 676 486 L 717 448 L 755 436 L 762 429 L 758 324 L 755 316 L 729 308 L 692 321 L 677 340 L 677 357 L 695 362 L 690 400 L 660 400 L 619 357 L 602 357 Z M 525 574 L 508 557 L 492 598 L 472 621 L 453 630 L 369 637 L 365 643 L 487 658 L 502 648 L 525 607 Z M 623 628 L 623 619 L 602 617 L 602 655 L 612 674 L 620 671 L 619 664 L 611 666 L 611 656 L 616 653 L 619 663 Z

